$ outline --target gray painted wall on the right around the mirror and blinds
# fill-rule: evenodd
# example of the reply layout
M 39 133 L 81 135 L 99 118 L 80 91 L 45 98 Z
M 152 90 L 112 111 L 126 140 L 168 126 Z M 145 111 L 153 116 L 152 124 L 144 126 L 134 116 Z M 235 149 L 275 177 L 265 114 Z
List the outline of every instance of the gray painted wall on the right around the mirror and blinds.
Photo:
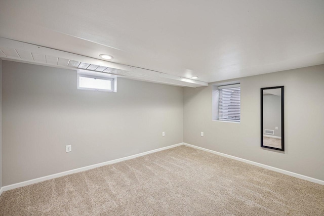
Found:
M 184 88 L 184 142 L 324 180 L 324 65 L 224 82 L 229 81 L 240 82 L 240 123 L 212 121 L 214 83 Z M 285 152 L 260 147 L 260 88 L 280 85 L 285 86 Z

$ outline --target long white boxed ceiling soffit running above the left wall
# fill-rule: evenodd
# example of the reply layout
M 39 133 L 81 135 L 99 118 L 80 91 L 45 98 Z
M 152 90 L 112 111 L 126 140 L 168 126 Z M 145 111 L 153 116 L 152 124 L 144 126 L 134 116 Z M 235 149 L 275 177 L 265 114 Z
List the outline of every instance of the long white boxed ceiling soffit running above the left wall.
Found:
M 19 55 L 19 53 L 23 53 L 23 55 Z M 143 81 L 179 85 L 182 87 L 195 88 L 208 86 L 208 83 L 203 81 L 188 79 L 130 65 L 113 63 L 3 37 L 0 37 L 0 58 L 60 68 L 82 68 L 90 71 L 96 71 L 99 66 L 102 66 L 107 67 L 107 69 L 97 72 L 113 73 L 118 76 L 136 78 L 139 80 L 142 79 Z M 66 66 L 64 66 L 64 64 L 66 64 Z M 98 67 L 94 65 L 98 65 Z M 125 71 L 128 71 L 128 73 L 125 73 Z M 138 76 L 139 74 L 143 75 Z

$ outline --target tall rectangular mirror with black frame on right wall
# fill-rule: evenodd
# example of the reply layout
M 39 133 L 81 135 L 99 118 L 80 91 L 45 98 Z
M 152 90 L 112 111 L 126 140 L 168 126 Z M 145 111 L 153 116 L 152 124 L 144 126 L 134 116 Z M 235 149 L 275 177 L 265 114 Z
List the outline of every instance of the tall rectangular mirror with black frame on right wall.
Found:
M 285 151 L 284 87 L 261 89 L 261 147 Z

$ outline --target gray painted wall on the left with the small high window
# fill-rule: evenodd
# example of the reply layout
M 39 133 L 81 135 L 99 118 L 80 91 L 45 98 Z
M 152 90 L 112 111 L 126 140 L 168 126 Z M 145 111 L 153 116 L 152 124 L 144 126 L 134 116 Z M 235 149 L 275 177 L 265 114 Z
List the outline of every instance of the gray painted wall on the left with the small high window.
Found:
M 182 142 L 180 87 L 77 90 L 76 71 L 3 61 L 3 186 Z

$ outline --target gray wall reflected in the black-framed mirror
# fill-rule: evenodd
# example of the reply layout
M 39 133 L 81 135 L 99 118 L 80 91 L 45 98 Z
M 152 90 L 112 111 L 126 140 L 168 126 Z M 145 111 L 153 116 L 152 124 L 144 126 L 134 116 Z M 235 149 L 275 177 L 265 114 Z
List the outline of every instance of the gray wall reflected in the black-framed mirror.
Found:
M 275 127 L 278 129 L 275 129 Z M 263 134 L 265 129 L 274 131 L 274 135 L 281 137 L 281 97 L 277 95 L 263 95 Z

